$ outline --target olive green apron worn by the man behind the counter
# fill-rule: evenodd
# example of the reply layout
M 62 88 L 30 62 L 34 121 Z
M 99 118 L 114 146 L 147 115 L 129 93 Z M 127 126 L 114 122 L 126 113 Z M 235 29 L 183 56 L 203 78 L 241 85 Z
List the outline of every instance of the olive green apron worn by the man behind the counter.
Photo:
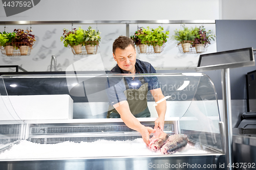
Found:
M 148 84 L 145 83 L 142 77 L 140 77 L 139 80 L 142 84 L 139 89 L 129 88 L 127 82 L 124 80 L 126 90 L 123 93 L 135 117 L 150 117 L 150 110 L 148 110 L 146 99 Z M 110 106 L 106 118 L 120 118 L 120 115 L 113 106 Z

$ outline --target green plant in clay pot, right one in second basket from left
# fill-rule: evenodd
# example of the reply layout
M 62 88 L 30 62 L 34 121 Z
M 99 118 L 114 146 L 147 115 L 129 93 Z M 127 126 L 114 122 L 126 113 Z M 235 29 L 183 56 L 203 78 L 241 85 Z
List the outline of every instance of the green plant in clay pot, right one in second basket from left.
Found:
M 86 43 L 86 51 L 87 54 L 93 54 L 94 53 L 94 48 L 95 45 L 98 45 L 101 37 L 100 37 L 100 32 L 94 29 L 90 26 L 88 30 L 84 31 L 84 39 Z

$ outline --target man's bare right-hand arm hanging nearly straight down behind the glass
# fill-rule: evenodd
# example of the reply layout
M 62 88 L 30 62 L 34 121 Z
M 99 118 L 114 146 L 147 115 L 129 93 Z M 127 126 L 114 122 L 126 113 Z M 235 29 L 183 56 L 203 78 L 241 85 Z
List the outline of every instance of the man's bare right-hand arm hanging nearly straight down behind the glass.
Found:
M 161 88 L 156 88 L 156 89 L 150 90 L 150 92 L 153 95 L 155 102 L 158 102 L 164 98 Z M 166 112 L 166 100 L 158 103 L 156 106 L 156 110 L 157 110 L 158 118 L 155 120 L 155 128 L 154 129 L 157 129 L 159 127 L 161 130 L 163 130 L 164 117 L 165 117 L 165 112 Z

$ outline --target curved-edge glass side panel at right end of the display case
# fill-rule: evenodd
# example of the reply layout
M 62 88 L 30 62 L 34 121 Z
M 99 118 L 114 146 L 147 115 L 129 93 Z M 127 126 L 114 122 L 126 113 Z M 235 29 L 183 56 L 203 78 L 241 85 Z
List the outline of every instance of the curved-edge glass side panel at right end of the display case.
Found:
M 180 133 L 190 141 L 222 151 L 219 130 L 220 114 L 214 84 L 208 78 L 200 78 L 195 97 L 186 113 L 181 117 Z

